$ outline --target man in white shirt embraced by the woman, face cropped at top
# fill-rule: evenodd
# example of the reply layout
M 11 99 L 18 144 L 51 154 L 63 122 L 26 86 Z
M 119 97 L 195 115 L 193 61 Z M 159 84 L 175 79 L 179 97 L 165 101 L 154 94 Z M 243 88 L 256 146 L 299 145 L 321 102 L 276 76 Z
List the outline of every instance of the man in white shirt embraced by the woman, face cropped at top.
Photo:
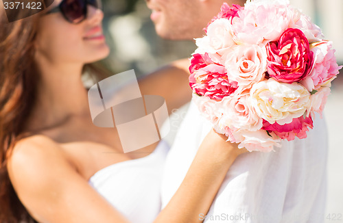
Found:
M 204 35 L 222 0 L 147 0 L 158 35 L 171 40 Z M 244 1 L 228 0 L 229 5 Z M 167 157 L 162 205 L 178 189 L 211 124 L 191 102 Z M 283 142 L 271 153 L 246 153 L 226 174 L 209 213 L 194 222 L 324 222 L 327 130 L 316 116 L 304 140 Z M 204 179 L 206 181 L 206 179 Z

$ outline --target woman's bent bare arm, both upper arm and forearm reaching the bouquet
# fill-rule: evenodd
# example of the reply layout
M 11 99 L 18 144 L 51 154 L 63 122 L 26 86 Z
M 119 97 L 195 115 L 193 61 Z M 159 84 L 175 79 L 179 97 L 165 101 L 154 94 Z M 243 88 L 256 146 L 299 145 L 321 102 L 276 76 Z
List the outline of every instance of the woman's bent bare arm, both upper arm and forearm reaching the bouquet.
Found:
M 211 131 L 182 185 L 155 222 L 201 222 L 199 214 L 207 213 L 228 168 L 244 152 Z M 60 146 L 48 137 L 38 135 L 19 142 L 8 172 L 21 202 L 39 222 L 128 223 L 82 179 Z

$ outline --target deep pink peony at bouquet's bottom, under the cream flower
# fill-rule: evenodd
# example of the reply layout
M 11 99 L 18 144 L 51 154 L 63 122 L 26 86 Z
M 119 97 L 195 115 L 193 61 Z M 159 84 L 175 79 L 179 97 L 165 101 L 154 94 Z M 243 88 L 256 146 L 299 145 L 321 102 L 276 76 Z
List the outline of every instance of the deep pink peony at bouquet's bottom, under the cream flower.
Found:
M 304 139 L 307 137 L 306 132 L 309 131 L 309 128 L 314 127 L 314 122 L 311 118 L 300 116 L 299 118 L 293 118 L 292 122 L 289 124 L 278 124 L 277 122 L 274 122 L 274 124 L 270 124 L 270 122 L 263 120 L 263 128 L 264 130 L 268 132 L 273 132 L 277 136 L 279 136 L 283 140 L 294 140 L 295 137 L 298 137 L 299 139 Z

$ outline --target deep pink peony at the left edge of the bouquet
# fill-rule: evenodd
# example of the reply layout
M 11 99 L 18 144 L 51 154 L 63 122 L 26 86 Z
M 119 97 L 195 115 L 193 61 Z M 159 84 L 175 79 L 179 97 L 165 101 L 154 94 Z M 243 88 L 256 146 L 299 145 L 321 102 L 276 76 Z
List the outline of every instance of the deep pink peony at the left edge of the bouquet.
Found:
M 215 64 L 207 53 L 193 55 L 189 71 L 189 86 L 200 96 L 221 101 L 237 89 L 237 82 L 228 81 L 226 68 Z

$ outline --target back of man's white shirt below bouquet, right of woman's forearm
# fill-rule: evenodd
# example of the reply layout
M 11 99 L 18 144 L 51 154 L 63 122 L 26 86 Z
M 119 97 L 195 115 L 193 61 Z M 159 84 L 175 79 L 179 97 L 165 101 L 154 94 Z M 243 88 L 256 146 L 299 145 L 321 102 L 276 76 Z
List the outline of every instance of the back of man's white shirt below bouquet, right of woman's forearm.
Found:
M 327 129 L 316 120 L 307 138 L 274 152 L 245 153 L 226 174 L 204 223 L 324 222 Z M 206 219 L 205 219 L 206 218 Z

